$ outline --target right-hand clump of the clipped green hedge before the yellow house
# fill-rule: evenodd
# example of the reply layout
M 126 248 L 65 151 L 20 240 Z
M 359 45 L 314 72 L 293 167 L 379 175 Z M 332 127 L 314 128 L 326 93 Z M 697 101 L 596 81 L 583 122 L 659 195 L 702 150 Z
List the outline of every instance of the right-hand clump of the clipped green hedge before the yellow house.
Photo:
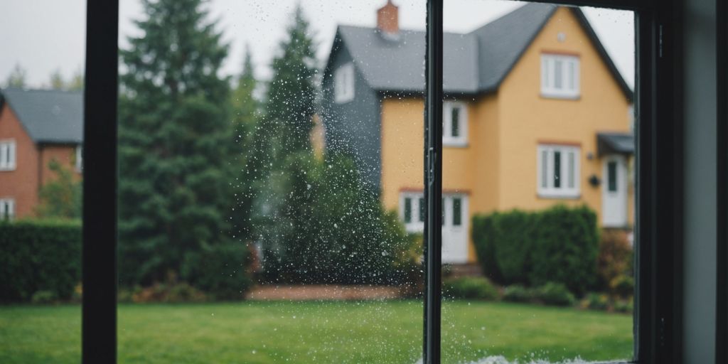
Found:
M 543 210 L 534 228 L 531 284 L 557 282 L 571 292 L 584 292 L 596 277 L 598 242 L 596 213 L 588 207 Z

